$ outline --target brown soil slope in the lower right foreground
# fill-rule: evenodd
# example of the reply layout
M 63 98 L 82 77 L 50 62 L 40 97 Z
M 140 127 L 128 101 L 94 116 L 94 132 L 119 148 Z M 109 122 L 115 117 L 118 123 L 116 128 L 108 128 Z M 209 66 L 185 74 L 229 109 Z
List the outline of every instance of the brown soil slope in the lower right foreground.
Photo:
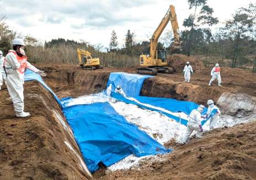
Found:
M 227 130 L 206 133 L 202 139 L 191 139 L 183 146 L 174 145 L 173 153 L 160 162 L 146 162 L 127 171 L 105 175 L 97 179 L 256 179 L 256 122 Z

